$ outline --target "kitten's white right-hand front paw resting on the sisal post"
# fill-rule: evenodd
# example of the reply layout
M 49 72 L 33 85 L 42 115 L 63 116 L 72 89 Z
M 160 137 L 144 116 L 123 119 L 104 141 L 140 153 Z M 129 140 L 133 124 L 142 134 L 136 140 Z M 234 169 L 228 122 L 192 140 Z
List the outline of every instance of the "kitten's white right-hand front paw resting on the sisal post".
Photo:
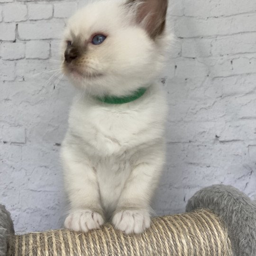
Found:
M 150 215 L 145 210 L 121 210 L 114 215 L 112 222 L 116 229 L 126 234 L 140 234 L 150 227 Z

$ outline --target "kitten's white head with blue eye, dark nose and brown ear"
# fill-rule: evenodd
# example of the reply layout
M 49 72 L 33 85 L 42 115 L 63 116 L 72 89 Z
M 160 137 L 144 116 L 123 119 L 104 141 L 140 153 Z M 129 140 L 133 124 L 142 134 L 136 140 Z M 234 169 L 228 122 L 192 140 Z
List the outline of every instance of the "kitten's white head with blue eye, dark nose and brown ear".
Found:
M 159 75 L 167 0 L 101 0 L 68 21 L 63 68 L 93 95 L 124 96 Z

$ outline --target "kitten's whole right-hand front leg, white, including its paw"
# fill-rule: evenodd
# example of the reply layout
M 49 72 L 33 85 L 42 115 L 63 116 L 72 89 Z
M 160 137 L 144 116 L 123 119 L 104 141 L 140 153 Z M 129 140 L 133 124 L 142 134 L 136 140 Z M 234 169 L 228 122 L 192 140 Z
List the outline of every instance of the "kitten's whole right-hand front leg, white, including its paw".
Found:
M 132 171 L 113 215 L 116 229 L 139 234 L 150 227 L 149 203 L 160 174 L 160 165 L 145 162 Z

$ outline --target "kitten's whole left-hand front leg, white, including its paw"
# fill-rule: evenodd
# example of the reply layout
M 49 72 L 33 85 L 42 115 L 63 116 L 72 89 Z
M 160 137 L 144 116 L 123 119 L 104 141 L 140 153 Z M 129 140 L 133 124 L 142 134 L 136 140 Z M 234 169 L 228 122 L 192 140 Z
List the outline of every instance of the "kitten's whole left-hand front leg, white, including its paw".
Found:
M 73 231 L 100 229 L 104 223 L 97 176 L 93 167 L 63 149 L 64 182 L 71 210 L 64 226 Z

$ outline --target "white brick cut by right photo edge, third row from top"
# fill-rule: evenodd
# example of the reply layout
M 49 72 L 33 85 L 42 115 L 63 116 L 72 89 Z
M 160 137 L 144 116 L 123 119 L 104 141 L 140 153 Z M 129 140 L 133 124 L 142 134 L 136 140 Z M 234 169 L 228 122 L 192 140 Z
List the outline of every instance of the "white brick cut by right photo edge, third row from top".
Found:
M 256 33 L 217 37 L 212 40 L 212 55 L 256 53 Z

